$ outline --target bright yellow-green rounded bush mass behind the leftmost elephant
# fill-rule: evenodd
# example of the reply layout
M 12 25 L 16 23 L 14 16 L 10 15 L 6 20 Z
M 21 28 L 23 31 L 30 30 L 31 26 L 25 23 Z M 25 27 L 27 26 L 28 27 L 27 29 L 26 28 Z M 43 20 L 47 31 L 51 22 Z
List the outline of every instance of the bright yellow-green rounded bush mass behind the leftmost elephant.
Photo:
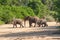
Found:
M 9 23 L 14 17 L 24 18 L 25 16 L 34 16 L 34 12 L 29 7 L 23 6 L 0 6 L 0 19 L 5 23 Z

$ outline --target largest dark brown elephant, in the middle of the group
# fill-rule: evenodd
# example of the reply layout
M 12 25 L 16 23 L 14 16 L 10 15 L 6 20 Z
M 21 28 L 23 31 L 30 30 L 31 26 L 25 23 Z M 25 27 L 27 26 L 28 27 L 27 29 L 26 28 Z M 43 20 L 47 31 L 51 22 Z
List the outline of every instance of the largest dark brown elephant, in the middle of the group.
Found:
M 26 24 L 27 20 L 29 21 L 29 27 L 32 26 L 32 23 L 35 23 L 34 27 L 36 27 L 36 24 L 37 24 L 37 21 L 39 20 L 39 18 L 37 16 L 34 16 L 34 17 L 32 17 L 32 16 L 26 16 L 24 18 L 24 25 Z

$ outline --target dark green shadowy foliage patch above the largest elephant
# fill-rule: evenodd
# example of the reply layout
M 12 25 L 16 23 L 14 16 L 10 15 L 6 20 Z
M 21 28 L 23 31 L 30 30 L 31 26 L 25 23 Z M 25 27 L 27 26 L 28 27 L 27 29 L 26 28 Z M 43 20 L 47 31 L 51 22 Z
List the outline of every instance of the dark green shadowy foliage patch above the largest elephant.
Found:
M 40 6 L 42 6 L 42 4 L 41 5 L 40 4 L 41 2 L 39 3 L 39 2 L 33 1 L 28 4 L 28 7 L 31 7 L 34 13 L 37 15 L 39 13 Z

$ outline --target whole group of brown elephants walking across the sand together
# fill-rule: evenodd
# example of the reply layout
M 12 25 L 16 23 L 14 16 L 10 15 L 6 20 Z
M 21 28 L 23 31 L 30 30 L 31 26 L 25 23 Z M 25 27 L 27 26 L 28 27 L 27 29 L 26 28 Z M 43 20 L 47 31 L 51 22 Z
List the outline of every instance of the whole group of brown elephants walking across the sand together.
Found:
M 20 27 L 25 27 L 26 26 L 26 21 L 29 21 L 29 27 L 32 27 L 32 23 L 34 23 L 34 27 L 36 27 L 38 25 L 38 27 L 42 26 L 42 27 L 46 27 L 48 26 L 46 19 L 43 17 L 42 19 L 38 18 L 37 16 L 26 16 L 24 19 L 24 26 L 22 23 L 21 19 L 14 19 L 13 20 L 13 28 L 17 27 L 17 24 L 20 25 Z

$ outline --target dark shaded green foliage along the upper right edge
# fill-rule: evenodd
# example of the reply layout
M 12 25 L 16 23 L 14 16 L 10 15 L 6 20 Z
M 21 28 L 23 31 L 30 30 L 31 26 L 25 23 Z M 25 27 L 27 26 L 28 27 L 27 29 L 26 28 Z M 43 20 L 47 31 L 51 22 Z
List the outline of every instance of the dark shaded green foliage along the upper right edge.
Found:
M 60 0 L 53 0 L 53 3 L 53 10 L 55 11 L 53 16 L 57 21 L 60 21 Z

